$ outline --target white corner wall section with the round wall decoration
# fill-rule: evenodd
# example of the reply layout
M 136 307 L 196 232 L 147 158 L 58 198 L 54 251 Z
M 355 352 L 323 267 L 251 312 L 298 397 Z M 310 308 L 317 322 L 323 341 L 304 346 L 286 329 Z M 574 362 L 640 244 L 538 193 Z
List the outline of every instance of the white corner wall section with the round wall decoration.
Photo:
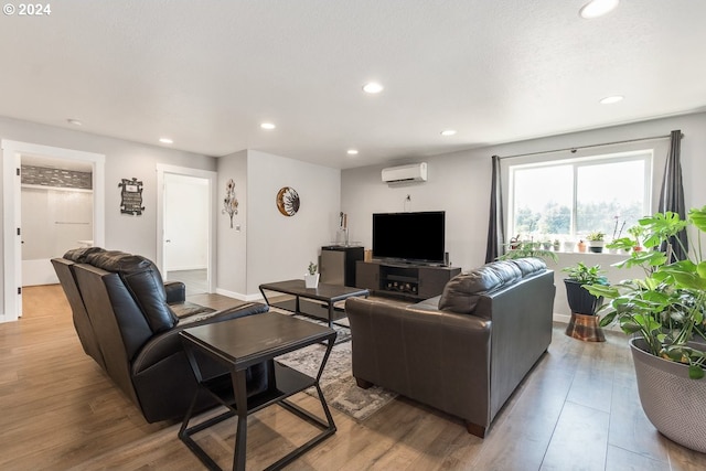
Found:
M 321 246 L 334 239 L 341 171 L 247 150 L 218 158 L 218 201 L 229 179 L 238 214 L 234 228 L 227 215 L 218 221 L 218 292 L 257 299 L 264 282 L 302 278 Z M 301 201 L 290 217 L 277 210 L 282 186 L 293 188 Z

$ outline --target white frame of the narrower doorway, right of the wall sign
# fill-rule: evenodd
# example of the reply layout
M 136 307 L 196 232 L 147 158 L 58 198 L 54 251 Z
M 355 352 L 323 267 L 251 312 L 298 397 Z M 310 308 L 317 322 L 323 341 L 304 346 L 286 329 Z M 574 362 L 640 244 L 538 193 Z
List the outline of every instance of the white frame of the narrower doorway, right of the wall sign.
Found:
M 208 254 L 206 256 L 207 290 L 215 292 L 216 286 L 216 214 L 218 173 L 212 170 L 191 169 L 189 167 L 157 164 L 157 267 L 167 276 L 164 267 L 164 174 L 172 173 L 183 176 L 195 176 L 208 181 Z

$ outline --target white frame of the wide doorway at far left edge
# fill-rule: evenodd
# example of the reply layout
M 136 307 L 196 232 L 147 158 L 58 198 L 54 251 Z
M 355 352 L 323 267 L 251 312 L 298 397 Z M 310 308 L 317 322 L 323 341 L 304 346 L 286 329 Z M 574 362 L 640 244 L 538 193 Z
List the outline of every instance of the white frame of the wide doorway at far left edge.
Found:
M 62 160 L 76 160 L 93 164 L 93 239 L 94 244 L 105 245 L 105 161 L 101 153 L 41 146 L 2 139 L 2 205 L 3 205 L 3 312 L 0 322 L 17 321 L 22 310 L 22 247 L 21 197 L 22 181 L 19 170 L 22 154 L 41 156 Z

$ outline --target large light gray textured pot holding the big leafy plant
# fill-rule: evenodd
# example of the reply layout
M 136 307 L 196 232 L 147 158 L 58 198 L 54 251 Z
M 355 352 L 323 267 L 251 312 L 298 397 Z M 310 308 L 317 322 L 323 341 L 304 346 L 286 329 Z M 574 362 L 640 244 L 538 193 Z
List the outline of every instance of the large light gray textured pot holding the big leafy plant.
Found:
M 644 414 L 665 437 L 706 453 L 706 378 L 691 379 L 688 366 L 653 356 L 640 345 L 642 338 L 630 340 Z

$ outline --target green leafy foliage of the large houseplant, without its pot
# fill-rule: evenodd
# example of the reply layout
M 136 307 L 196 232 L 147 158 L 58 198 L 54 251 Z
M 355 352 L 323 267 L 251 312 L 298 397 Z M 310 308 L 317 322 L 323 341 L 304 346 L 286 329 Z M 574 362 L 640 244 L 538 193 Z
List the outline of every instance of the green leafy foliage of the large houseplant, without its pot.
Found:
M 706 232 L 706 206 L 691 210 L 686 221 L 667 212 L 643 217 L 639 223 L 644 231 L 645 250 L 632 251 L 630 258 L 617 266 L 642 267 L 645 277 L 587 288 L 612 300 L 606 304 L 600 323 L 605 327 L 618 322 L 623 332 L 644 339 L 651 354 L 686 363 L 693 378 L 704 377 L 706 353 L 688 344 L 694 336 L 706 340 L 706 261 L 702 257 L 700 237 L 686 260 L 674 258 L 670 240 L 678 240 L 672 237 L 689 225 L 698 229 L 697 236 Z M 660 251 L 663 243 L 666 250 Z M 634 240 L 628 237 L 609 244 L 610 248 L 633 246 Z

